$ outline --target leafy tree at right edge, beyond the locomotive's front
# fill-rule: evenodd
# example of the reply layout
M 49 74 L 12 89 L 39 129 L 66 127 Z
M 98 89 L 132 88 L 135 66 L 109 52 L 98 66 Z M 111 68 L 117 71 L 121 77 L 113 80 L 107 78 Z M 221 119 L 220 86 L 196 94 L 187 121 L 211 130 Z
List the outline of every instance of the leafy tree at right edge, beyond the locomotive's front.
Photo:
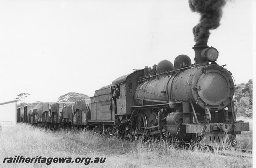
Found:
M 252 117 L 252 79 L 235 87 L 236 114 Z

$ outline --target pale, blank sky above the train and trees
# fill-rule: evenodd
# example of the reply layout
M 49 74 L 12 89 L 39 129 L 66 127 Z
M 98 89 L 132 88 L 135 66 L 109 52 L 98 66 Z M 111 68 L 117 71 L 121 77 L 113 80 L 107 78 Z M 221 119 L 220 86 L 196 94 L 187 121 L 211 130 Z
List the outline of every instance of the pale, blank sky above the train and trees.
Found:
M 208 41 L 236 84 L 252 79 L 251 6 L 229 1 Z M 199 18 L 187 0 L 2 0 L 0 102 L 24 92 L 29 102 L 93 96 L 132 69 L 173 63 L 180 54 L 193 60 Z

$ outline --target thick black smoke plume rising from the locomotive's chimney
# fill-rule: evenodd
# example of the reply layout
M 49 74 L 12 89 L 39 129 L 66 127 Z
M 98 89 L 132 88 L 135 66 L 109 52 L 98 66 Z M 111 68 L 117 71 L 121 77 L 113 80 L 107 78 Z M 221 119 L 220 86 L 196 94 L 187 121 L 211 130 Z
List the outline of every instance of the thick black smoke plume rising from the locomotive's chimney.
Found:
M 220 26 L 222 7 L 225 0 L 188 0 L 193 12 L 201 15 L 199 23 L 193 28 L 196 45 L 207 45 L 210 30 Z

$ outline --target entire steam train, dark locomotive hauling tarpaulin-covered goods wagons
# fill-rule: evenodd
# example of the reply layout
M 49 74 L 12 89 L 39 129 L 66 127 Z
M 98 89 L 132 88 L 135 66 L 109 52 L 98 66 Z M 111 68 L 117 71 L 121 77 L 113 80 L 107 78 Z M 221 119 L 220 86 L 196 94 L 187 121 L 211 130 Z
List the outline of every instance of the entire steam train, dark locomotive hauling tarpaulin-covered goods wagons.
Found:
M 96 126 L 102 132 L 124 136 L 168 134 L 183 141 L 233 143 L 236 134 L 249 131 L 249 123 L 236 121 L 232 74 L 216 63 L 217 49 L 207 45 L 193 49 L 194 64 L 187 55 L 177 56 L 174 66 L 163 60 L 96 90 L 90 103 L 37 105 L 26 120 L 43 125 Z

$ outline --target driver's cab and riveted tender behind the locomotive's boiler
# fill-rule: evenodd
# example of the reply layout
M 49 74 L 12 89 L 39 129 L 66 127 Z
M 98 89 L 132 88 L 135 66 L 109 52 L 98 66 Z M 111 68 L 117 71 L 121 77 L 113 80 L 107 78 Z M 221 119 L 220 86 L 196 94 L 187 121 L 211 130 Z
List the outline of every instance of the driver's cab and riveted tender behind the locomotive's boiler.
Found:
M 133 94 L 141 77 L 144 77 L 144 69 L 121 76 L 112 85 L 96 90 L 91 97 L 91 120 L 88 122 L 94 125 L 103 123 L 104 126 L 126 123 L 132 114 L 130 107 L 135 105 Z

